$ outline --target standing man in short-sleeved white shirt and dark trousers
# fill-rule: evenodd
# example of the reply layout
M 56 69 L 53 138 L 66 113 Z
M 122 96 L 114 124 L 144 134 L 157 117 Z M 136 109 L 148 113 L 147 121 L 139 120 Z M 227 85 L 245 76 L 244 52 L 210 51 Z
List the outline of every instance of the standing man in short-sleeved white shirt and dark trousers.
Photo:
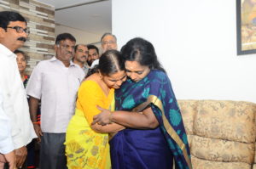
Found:
M 44 60 L 32 71 L 26 86 L 30 96 L 30 114 L 41 141 L 40 169 L 65 169 L 67 125 L 74 114 L 75 101 L 84 71 L 73 64 L 76 39 L 62 33 L 55 40 L 55 57 Z M 41 100 L 41 126 L 38 125 L 38 102 Z

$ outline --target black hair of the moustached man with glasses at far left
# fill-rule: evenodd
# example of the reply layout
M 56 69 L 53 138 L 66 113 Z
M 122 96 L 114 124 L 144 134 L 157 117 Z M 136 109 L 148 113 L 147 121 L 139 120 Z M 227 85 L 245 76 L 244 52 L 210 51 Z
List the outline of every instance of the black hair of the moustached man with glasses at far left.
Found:
M 25 18 L 19 13 L 13 11 L 0 12 L 0 27 L 6 30 L 7 26 L 9 25 L 9 22 L 11 21 L 21 21 L 26 23 Z

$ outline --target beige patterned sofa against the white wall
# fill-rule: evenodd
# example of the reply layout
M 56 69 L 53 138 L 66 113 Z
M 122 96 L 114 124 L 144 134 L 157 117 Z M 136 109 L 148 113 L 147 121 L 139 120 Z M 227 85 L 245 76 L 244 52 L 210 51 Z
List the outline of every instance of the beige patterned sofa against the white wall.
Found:
M 256 169 L 256 104 L 178 100 L 194 169 Z

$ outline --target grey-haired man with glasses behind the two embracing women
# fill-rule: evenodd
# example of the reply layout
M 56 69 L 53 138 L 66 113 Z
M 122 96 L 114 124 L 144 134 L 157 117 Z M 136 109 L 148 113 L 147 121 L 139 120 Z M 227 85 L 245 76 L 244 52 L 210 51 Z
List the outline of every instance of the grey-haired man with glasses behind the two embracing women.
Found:
M 115 49 L 117 50 L 117 39 L 112 33 L 104 33 L 102 38 L 102 53 L 106 52 L 107 50 Z M 90 66 L 93 68 L 95 65 L 99 64 L 99 59 L 96 59 Z

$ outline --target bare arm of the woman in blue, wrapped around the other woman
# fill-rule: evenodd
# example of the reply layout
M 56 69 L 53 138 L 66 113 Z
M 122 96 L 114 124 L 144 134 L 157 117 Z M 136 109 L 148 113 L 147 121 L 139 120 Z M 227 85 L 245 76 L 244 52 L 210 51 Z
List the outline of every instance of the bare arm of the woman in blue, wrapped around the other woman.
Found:
M 95 115 L 92 124 L 108 124 L 110 122 L 116 122 L 125 127 L 148 129 L 159 126 L 153 110 L 151 107 L 143 110 L 143 113 L 129 112 L 129 111 L 114 111 L 111 113 L 109 110 L 102 110 L 102 113 Z

